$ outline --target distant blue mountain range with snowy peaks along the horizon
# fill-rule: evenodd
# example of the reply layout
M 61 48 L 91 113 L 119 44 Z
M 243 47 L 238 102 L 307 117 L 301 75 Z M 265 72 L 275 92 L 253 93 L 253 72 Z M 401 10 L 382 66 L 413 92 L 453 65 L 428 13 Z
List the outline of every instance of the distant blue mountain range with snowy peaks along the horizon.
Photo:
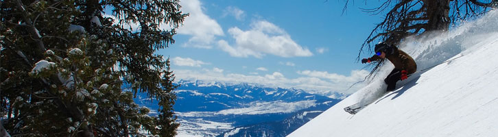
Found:
M 217 112 L 217 114 L 266 114 L 296 112 L 328 97 L 304 90 L 269 88 L 251 84 L 180 81 L 176 90 L 176 112 Z M 283 108 L 282 106 L 286 106 Z M 278 109 L 281 110 L 278 110 Z M 258 110 L 258 111 L 254 111 Z

